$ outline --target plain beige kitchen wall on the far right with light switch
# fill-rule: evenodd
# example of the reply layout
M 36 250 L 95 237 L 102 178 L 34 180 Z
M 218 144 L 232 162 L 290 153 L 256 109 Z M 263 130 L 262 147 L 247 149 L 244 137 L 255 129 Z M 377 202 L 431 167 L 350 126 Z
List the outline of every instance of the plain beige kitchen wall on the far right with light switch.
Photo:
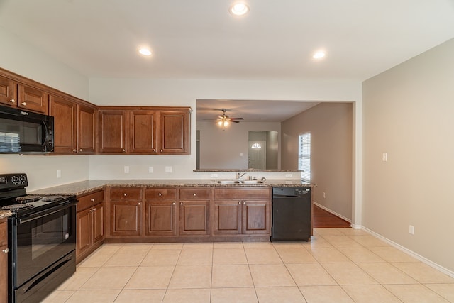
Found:
M 362 165 L 362 226 L 451 271 L 453 54 L 454 39 L 364 82 Z

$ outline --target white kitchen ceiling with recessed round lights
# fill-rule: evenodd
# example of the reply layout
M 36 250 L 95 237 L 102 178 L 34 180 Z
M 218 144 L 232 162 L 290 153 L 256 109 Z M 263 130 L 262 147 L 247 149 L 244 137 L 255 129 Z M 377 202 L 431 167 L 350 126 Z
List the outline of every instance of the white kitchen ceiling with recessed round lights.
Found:
M 0 27 L 89 78 L 363 81 L 454 37 L 454 0 L 245 1 L 0 0 Z

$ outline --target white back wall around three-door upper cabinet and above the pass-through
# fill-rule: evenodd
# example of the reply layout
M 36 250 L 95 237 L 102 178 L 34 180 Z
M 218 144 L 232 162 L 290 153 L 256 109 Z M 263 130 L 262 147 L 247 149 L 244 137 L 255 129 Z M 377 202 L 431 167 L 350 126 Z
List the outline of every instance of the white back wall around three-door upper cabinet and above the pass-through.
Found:
M 211 174 L 192 172 L 196 168 L 197 99 L 361 100 L 360 83 L 353 81 L 90 79 L 89 84 L 89 100 L 98 105 L 191 106 L 194 110 L 191 122 L 191 155 L 92 155 L 89 165 L 91 179 L 135 179 L 143 177 L 151 179 L 205 179 L 211 177 Z M 128 174 L 123 172 L 125 165 L 130 166 Z M 149 166 L 153 166 L 153 174 L 148 173 Z M 165 173 L 165 166 L 172 166 L 173 172 Z M 155 170 L 155 167 L 158 167 L 158 169 Z M 231 175 L 228 176 L 231 177 Z M 275 175 L 275 177 L 279 177 L 279 175 Z

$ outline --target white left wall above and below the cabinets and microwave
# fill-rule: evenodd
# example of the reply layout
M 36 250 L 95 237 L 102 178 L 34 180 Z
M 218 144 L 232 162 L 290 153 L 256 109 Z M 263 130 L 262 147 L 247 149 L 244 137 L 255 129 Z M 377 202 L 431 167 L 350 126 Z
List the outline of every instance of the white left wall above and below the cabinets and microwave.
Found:
M 0 28 L 0 67 L 42 84 L 88 99 L 88 79 Z M 25 172 L 28 190 L 87 180 L 88 156 L 0 155 L 0 173 Z M 57 179 L 56 172 L 62 177 Z

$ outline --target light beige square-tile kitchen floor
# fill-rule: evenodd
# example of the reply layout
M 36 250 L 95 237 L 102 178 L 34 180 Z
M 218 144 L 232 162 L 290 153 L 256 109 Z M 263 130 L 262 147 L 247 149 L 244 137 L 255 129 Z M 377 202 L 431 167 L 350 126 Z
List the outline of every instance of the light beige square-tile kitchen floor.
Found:
M 365 231 L 310 243 L 106 244 L 50 302 L 454 302 L 454 278 Z

